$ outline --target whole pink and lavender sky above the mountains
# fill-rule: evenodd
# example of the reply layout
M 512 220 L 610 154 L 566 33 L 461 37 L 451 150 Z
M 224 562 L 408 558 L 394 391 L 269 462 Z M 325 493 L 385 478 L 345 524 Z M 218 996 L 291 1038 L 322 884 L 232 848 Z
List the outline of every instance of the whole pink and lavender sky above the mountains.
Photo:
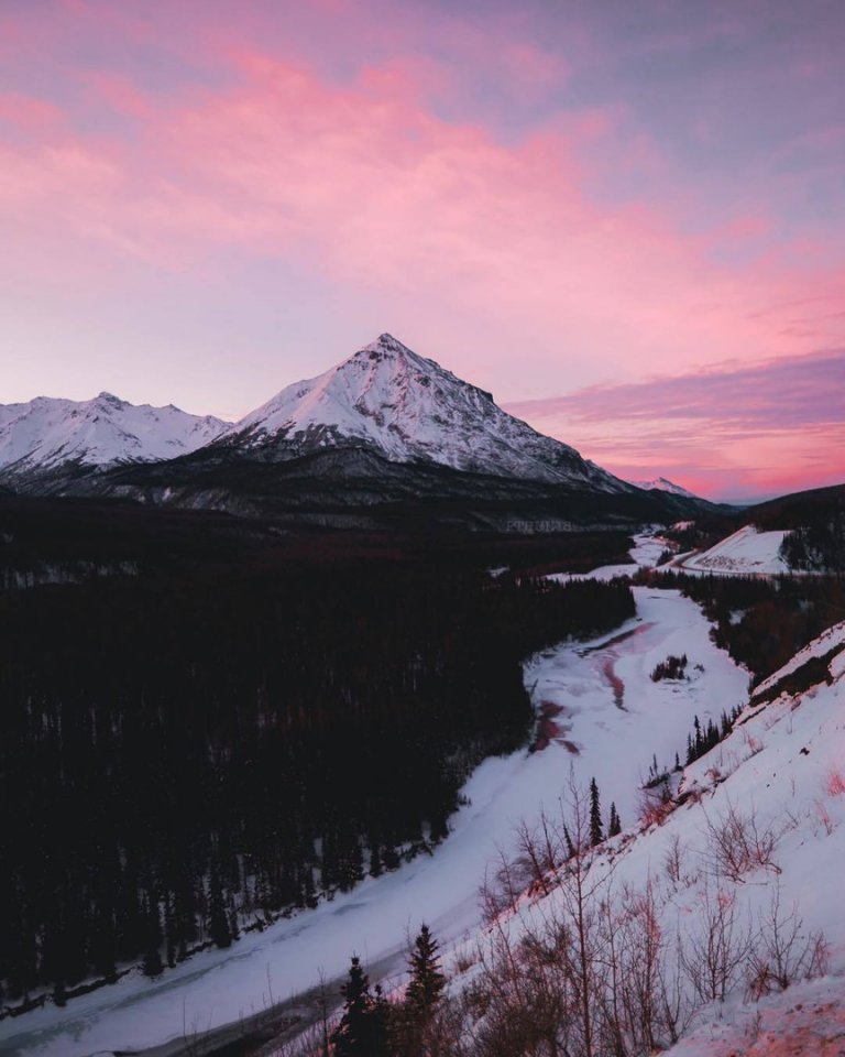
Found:
M 623 476 L 845 479 L 845 11 L 596 8 L 7 0 L 0 403 L 389 330 Z

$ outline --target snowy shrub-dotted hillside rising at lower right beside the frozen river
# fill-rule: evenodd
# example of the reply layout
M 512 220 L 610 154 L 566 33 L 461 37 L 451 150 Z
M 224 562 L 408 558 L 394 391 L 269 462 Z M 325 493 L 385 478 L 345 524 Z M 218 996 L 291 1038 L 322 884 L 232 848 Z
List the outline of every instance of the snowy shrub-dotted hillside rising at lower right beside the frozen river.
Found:
M 584 1017 L 574 1006 L 567 1020 L 559 1001 L 577 990 L 573 967 L 585 967 L 591 1027 L 605 1039 L 594 1053 L 612 1053 L 617 1029 L 629 1054 L 678 1036 L 678 1057 L 838 1053 L 844 706 L 845 622 L 762 683 L 731 733 L 668 775 L 665 793 L 658 783 L 636 827 L 555 868 L 456 954 L 456 1001 L 486 996 L 460 1006 L 476 1040 L 469 1053 L 518 1024 L 517 1002 L 568 1053 L 584 1053 Z M 566 815 L 577 835 L 571 804 Z M 584 930 L 585 961 L 575 949 L 564 957 L 566 945 L 538 960 L 560 929 Z M 802 999 L 820 1014 L 812 1025 L 790 1016 Z M 517 1026 L 508 1051 L 528 1053 L 531 1029 Z

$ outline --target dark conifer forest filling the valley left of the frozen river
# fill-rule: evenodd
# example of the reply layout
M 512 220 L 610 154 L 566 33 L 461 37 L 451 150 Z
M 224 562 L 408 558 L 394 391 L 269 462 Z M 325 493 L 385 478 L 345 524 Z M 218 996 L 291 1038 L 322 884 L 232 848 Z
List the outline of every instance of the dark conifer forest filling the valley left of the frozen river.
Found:
M 451 553 L 267 554 L 0 592 L 3 1005 L 425 853 L 526 743 L 524 658 L 634 613 L 624 585 Z

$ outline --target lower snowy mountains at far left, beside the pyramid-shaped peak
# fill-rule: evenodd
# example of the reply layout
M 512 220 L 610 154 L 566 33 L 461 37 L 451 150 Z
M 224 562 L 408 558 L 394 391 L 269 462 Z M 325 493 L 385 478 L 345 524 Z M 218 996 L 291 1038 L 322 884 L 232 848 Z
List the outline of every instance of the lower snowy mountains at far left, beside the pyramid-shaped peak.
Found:
M 86 401 L 37 396 L 0 405 L 0 476 L 13 480 L 70 464 L 108 467 L 172 459 L 213 440 L 227 425 L 173 404 L 135 406 L 110 393 Z

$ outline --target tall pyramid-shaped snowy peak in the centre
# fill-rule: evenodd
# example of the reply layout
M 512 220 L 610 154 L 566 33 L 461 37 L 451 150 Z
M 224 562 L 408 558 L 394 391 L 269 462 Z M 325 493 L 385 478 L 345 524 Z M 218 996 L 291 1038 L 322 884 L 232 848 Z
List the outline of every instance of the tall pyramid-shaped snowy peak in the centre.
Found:
M 283 389 L 212 448 L 274 462 L 350 446 L 392 462 L 438 464 L 604 492 L 632 490 L 389 334 L 323 374 Z

